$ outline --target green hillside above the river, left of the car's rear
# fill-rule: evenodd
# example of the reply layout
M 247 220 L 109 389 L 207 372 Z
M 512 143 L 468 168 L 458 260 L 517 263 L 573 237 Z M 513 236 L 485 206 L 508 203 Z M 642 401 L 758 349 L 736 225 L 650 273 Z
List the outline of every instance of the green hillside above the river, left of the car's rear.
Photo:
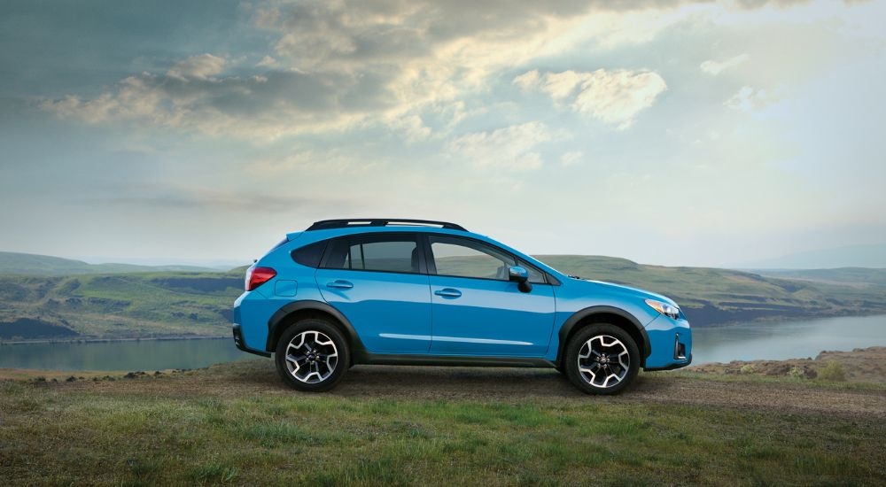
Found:
M 226 336 L 243 272 L 0 275 L 0 339 Z

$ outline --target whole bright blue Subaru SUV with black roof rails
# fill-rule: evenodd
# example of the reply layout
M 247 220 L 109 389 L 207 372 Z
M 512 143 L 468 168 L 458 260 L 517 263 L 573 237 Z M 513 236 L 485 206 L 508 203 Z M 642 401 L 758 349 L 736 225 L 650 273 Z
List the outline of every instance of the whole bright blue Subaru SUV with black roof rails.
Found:
M 234 342 L 285 383 L 329 390 L 355 364 L 556 367 L 590 394 L 686 367 L 671 299 L 566 275 L 459 225 L 323 220 L 246 271 Z

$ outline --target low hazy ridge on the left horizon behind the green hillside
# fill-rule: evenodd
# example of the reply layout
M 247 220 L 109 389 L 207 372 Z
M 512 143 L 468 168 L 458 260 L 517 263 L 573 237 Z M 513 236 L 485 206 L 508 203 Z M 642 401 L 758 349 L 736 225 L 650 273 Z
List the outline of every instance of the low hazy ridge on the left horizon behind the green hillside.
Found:
M 87 264 L 82 260 L 47 255 L 0 251 L 0 274 L 72 275 L 141 272 L 221 272 L 213 267 L 137 266 L 134 264 Z

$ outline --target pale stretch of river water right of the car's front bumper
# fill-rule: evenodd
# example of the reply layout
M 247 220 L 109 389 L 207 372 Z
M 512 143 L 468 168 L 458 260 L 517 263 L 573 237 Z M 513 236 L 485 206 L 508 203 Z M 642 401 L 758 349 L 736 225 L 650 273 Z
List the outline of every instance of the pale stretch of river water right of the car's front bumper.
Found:
M 815 358 L 886 345 L 886 315 L 692 329 L 692 363 Z

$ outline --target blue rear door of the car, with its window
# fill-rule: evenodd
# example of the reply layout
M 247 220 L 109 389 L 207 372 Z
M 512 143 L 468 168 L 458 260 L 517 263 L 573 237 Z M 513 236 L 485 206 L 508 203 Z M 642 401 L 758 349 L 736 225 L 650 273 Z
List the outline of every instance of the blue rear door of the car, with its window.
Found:
M 415 234 L 385 233 L 334 240 L 316 279 L 368 352 L 427 353 L 431 291 Z

